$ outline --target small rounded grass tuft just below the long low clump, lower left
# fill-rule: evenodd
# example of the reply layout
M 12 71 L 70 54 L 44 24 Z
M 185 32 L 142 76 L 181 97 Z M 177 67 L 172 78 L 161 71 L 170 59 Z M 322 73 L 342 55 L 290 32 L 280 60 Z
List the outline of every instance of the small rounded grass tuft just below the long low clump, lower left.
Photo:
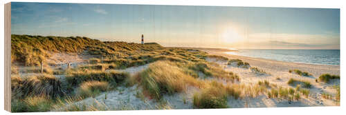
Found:
M 82 97 L 89 97 L 100 94 L 100 92 L 105 92 L 109 89 L 109 83 L 106 81 L 86 81 L 81 83 L 78 94 Z

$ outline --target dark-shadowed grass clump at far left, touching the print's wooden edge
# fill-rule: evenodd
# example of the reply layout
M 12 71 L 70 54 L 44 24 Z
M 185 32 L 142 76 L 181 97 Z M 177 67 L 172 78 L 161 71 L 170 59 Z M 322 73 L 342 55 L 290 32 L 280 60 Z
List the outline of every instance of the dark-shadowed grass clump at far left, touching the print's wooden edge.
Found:
M 25 79 L 12 77 L 11 82 L 13 83 L 11 87 L 19 97 L 43 95 L 56 98 L 64 96 L 66 92 L 62 82 L 49 74 L 28 76 Z

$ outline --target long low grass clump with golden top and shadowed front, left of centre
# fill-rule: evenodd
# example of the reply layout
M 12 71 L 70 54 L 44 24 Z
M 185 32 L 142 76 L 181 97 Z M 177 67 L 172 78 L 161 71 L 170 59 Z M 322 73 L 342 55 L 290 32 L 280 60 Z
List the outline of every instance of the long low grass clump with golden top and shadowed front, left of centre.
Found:
M 107 81 L 111 85 L 116 85 L 125 81 L 127 77 L 129 77 L 129 73 L 116 70 L 111 70 L 109 72 L 100 70 L 77 70 L 69 72 L 66 76 L 66 81 L 71 85 L 79 85 L 84 81 Z

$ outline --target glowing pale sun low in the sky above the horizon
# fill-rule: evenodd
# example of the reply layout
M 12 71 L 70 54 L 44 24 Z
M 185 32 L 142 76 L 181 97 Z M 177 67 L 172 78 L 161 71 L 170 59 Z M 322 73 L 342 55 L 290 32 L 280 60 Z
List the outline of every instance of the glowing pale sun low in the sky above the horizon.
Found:
M 243 40 L 243 37 L 235 30 L 235 28 L 228 27 L 221 32 L 221 39 L 226 43 L 237 43 Z

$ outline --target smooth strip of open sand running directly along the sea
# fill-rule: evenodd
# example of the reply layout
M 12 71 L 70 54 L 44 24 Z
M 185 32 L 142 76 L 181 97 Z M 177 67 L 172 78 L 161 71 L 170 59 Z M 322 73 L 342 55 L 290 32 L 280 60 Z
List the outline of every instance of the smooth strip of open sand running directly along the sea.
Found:
M 325 74 L 325 73 L 340 74 L 340 65 L 323 65 L 323 64 L 314 64 L 314 63 L 275 61 L 271 59 L 226 54 L 224 50 L 201 49 L 201 48 L 194 48 L 194 49 L 208 52 L 208 54 L 226 56 L 229 59 L 242 59 L 250 63 L 251 65 L 254 65 L 255 67 L 261 67 L 264 70 L 269 70 L 269 71 L 275 70 L 279 72 L 288 72 L 289 70 L 298 69 L 302 71 L 307 71 L 313 74 L 314 77 L 318 77 L 320 76 L 320 74 Z

